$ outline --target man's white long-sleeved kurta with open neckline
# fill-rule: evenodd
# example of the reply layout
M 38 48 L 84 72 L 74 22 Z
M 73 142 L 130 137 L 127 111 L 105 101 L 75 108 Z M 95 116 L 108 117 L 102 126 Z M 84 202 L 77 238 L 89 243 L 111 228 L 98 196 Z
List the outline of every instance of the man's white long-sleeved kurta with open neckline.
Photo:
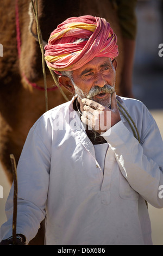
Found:
M 162 139 L 140 101 L 121 99 L 141 143 L 121 115 L 110 135 L 103 134 L 109 144 L 104 174 L 72 101 L 43 114 L 30 130 L 17 166 L 17 233 L 27 243 L 46 216 L 46 245 L 152 244 L 145 199 L 163 206 Z M 12 235 L 12 198 L 13 187 L 0 240 Z

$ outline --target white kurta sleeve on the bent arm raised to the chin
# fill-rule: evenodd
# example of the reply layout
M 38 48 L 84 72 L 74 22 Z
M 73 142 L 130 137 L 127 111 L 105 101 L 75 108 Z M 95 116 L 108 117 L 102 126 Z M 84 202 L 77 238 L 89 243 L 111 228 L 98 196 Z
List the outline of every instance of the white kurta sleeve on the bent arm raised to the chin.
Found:
M 140 123 L 141 119 L 140 143 L 122 120 L 111 127 L 110 136 L 104 133 L 103 137 L 114 150 L 120 170 L 130 186 L 151 205 L 162 208 L 163 199 L 159 197 L 160 186 L 163 185 L 162 138 L 145 106 L 141 111 Z

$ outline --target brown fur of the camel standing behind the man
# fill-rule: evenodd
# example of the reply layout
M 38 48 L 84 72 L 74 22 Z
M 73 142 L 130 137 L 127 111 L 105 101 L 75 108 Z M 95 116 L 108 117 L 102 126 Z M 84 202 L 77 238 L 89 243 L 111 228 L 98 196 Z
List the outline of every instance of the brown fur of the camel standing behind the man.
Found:
M 22 76 L 24 73 L 29 81 L 43 87 L 40 46 L 28 30 L 29 3 L 30 0 L 18 1 L 21 31 L 20 59 L 17 54 L 15 1 L 5 0 L 0 6 L 2 22 L 0 43 L 3 45 L 3 57 L 0 57 L 0 161 L 10 183 L 12 182 L 12 173 L 9 155 L 14 154 L 16 163 L 18 162 L 30 127 L 45 112 L 45 93 L 30 86 Z M 38 4 L 40 27 L 45 41 L 48 41 L 53 29 L 70 16 L 89 14 L 104 17 L 110 22 L 118 36 L 120 45 L 116 78 L 116 92 L 120 94 L 119 84 L 123 63 L 122 40 L 116 10 L 112 9 L 110 1 L 40 0 Z M 36 33 L 35 22 L 33 31 Z M 47 69 L 46 72 L 47 85 L 52 87 L 53 79 Z M 71 99 L 72 95 L 65 89 L 64 92 Z M 48 109 L 63 102 L 65 99 L 58 89 L 48 92 Z

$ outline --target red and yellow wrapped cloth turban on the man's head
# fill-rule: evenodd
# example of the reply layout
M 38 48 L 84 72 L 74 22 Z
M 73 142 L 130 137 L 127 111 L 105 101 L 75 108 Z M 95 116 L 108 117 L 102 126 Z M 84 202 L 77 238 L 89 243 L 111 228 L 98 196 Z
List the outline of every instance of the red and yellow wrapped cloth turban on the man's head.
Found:
M 57 74 L 76 70 L 95 57 L 117 57 L 116 42 L 117 36 L 105 19 L 90 15 L 71 17 L 51 33 L 45 60 Z

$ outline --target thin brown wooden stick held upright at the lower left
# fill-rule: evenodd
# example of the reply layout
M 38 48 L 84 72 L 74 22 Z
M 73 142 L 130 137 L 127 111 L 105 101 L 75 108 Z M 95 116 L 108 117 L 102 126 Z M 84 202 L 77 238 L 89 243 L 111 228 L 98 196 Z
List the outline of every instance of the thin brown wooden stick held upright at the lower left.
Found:
M 14 179 L 14 209 L 13 209 L 13 219 L 12 219 L 12 239 L 13 245 L 16 245 L 16 218 L 17 218 L 17 173 L 16 173 L 16 162 L 14 155 L 10 155 L 12 173 Z

